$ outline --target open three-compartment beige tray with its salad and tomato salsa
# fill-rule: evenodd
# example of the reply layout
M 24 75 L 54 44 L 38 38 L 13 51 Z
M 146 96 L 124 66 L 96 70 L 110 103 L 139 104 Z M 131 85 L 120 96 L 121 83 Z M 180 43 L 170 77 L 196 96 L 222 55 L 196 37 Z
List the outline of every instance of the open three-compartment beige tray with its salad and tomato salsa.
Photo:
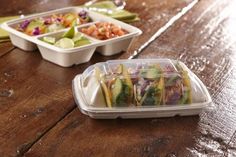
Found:
M 117 26 L 126 33 L 107 31 L 108 27 L 105 25 Z M 34 14 L 5 22 L 1 26 L 9 32 L 11 42 L 16 47 L 25 51 L 33 51 L 38 47 L 44 59 L 63 67 L 89 61 L 95 50 L 106 56 L 125 51 L 133 38 L 142 33 L 141 30 L 129 24 L 81 7 L 68 7 Z M 58 48 L 42 41 L 43 37 L 56 36 L 58 38 L 58 35 L 63 35 L 71 27 L 75 27 L 91 43 L 74 48 Z M 97 27 L 92 34 L 88 33 L 91 30 L 90 27 Z M 117 27 L 114 27 L 114 30 Z M 89 31 L 86 32 L 86 29 Z M 98 34 L 98 38 L 93 35 L 94 33 Z M 114 34 L 107 35 L 106 39 L 100 38 L 102 34 L 109 33 Z

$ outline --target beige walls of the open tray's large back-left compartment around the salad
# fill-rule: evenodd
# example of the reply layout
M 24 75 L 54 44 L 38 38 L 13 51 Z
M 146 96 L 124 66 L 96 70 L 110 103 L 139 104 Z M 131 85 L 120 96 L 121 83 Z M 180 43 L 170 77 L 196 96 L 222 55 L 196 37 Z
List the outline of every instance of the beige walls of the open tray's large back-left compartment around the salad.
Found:
M 1 27 L 9 32 L 10 39 L 11 39 L 11 42 L 13 45 L 15 45 L 16 47 L 19 47 L 20 49 L 25 50 L 25 51 L 33 51 L 33 50 L 37 49 L 37 46 L 35 45 L 35 41 L 34 41 L 36 36 L 41 36 L 43 34 L 39 34 L 39 35 L 35 35 L 35 36 L 25 34 L 25 33 L 16 29 L 20 24 L 23 24 L 25 21 L 32 21 L 34 19 L 46 18 L 46 17 L 50 17 L 52 15 L 59 15 L 59 14 L 66 14 L 66 13 L 76 13 L 77 14 L 83 10 L 85 10 L 88 13 L 88 17 L 90 17 L 90 19 L 91 19 L 90 22 L 96 20 L 96 13 L 91 13 L 91 11 L 88 11 L 85 8 L 67 7 L 67 8 L 52 10 L 52 11 L 48 11 L 48 12 L 44 12 L 44 13 L 34 14 L 34 15 L 26 16 L 26 17 L 19 18 L 19 19 L 10 20 L 8 22 L 3 23 L 1 25 Z M 69 25 L 68 25 L 68 27 L 69 27 Z M 60 28 L 60 29 L 65 29 L 65 28 Z M 58 30 L 55 30 L 55 31 L 58 31 Z M 47 34 L 47 33 L 45 33 L 45 34 Z

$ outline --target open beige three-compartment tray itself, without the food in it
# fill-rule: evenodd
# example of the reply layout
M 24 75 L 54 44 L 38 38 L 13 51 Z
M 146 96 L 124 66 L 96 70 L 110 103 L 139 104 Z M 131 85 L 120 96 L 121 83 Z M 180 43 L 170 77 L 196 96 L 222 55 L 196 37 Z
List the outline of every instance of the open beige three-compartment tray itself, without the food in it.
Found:
M 89 39 L 91 39 L 92 42 L 87 46 L 76 47 L 73 49 L 62 49 L 52 46 L 48 43 L 43 43 L 40 39 L 42 39 L 42 37 L 44 36 L 51 36 L 51 35 L 57 36 L 58 34 L 62 34 L 62 32 L 68 30 L 68 28 L 58 30 L 56 32 L 40 34 L 37 36 L 27 35 L 16 29 L 17 25 L 26 20 L 30 21 L 37 18 L 44 18 L 51 16 L 53 14 L 66 14 L 70 12 L 79 13 L 82 10 L 85 10 L 88 13 L 88 16 L 91 19 L 91 23 L 80 24 L 77 26 L 77 28 L 87 27 L 96 22 L 110 22 L 120 26 L 128 33 L 123 36 L 114 37 L 108 40 L 98 40 L 93 37 L 90 38 L 88 37 Z M 106 56 L 114 55 L 121 51 L 125 51 L 130 45 L 133 38 L 142 33 L 141 30 L 129 24 L 126 24 L 124 22 L 115 20 L 113 18 L 98 14 L 96 12 L 81 7 L 68 7 L 44 13 L 34 14 L 26 16 L 24 18 L 19 18 L 5 22 L 1 25 L 1 27 L 9 32 L 11 42 L 16 47 L 25 51 L 33 51 L 36 50 L 38 47 L 44 59 L 64 67 L 89 61 L 95 50 L 97 50 L 102 55 Z

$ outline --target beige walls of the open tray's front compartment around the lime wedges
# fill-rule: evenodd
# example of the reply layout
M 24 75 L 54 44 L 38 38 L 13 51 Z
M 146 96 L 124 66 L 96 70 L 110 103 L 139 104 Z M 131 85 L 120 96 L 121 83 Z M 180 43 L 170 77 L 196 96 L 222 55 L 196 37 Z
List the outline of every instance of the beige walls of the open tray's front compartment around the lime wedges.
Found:
M 48 60 L 63 67 L 70 67 L 75 64 L 88 62 L 91 59 L 98 42 L 85 34 L 82 35 L 87 38 L 91 43 L 74 48 L 60 48 L 43 41 L 45 37 L 53 37 L 56 40 L 59 40 L 60 38 L 62 38 L 65 32 L 68 32 L 68 29 L 50 34 L 45 34 L 36 39 L 36 43 L 38 45 L 42 57 L 45 60 Z

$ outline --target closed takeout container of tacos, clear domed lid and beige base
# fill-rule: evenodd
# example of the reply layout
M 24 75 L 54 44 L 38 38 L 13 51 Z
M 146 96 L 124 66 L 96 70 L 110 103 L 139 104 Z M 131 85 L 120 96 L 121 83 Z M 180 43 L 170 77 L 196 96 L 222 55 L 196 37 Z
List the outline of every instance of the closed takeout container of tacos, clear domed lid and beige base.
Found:
M 75 102 L 92 118 L 197 115 L 211 105 L 205 85 L 180 61 L 113 60 L 73 80 Z

